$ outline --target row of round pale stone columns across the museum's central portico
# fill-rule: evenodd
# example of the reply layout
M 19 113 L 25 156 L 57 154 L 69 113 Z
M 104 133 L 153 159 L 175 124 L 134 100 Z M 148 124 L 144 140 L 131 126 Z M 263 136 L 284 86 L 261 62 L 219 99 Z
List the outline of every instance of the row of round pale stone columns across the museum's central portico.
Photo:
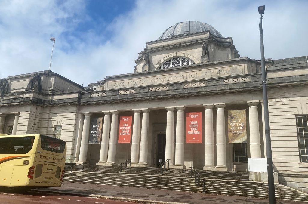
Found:
M 259 101 L 247 101 L 249 105 L 250 157 L 261 157 L 259 119 L 257 105 Z M 205 165 L 204 169 L 227 170 L 225 103 L 203 104 L 205 108 Z M 213 109 L 216 108 L 216 141 L 214 141 Z M 184 106 L 165 107 L 167 110 L 165 158 L 170 159 L 171 168 L 184 168 Z M 131 155 L 132 164 L 148 165 L 148 108 L 132 109 L 134 112 Z M 176 111 L 176 137 L 174 141 L 174 112 Z M 118 134 L 119 111 L 105 111 L 100 157 L 97 165 L 115 164 Z M 142 121 L 141 121 L 142 114 Z M 83 133 L 80 145 L 79 162 L 87 160 L 91 113 L 84 113 Z M 141 124 L 141 128 L 140 128 Z M 140 132 L 141 129 L 141 132 Z M 110 134 L 109 134 L 110 133 Z M 110 135 L 110 136 L 109 136 Z M 214 154 L 216 145 L 216 158 Z M 174 158 L 175 148 L 175 158 Z M 215 162 L 216 159 L 216 162 Z

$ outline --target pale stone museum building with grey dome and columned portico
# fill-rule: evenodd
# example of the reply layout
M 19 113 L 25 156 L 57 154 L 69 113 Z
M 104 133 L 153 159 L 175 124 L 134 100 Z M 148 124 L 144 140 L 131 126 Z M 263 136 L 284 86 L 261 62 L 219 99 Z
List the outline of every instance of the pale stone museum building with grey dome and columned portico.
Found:
M 60 138 L 68 163 L 248 171 L 266 158 L 261 61 L 231 37 L 179 22 L 135 62 L 88 87 L 48 70 L 0 80 L 0 133 Z M 307 56 L 265 67 L 275 175 L 308 192 Z

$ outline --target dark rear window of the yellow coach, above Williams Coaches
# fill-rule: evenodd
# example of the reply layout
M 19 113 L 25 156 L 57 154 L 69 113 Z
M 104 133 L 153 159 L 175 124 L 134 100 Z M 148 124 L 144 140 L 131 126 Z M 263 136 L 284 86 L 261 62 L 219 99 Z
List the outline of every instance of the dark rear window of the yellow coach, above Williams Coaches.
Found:
M 41 147 L 49 152 L 63 153 L 65 149 L 65 141 L 41 135 Z

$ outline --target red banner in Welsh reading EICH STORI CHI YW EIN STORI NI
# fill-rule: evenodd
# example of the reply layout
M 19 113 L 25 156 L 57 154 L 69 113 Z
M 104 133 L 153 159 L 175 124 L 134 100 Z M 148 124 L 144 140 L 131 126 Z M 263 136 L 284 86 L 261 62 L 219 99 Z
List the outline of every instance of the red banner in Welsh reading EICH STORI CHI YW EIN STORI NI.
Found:
M 130 143 L 132 133 L 132 116 L 120 116 L 118 143 Z

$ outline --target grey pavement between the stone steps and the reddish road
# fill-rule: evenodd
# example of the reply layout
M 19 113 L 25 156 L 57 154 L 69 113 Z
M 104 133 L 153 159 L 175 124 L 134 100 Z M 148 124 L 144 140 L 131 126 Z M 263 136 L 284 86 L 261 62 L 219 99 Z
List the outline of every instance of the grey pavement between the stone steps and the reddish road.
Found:
M 245 196 L 227 196 L 176 190 L 147 189 L 126 186 L 110 186 L 62 182 L 61 187 L 33 189 L 33 191 L 60 193 L 67 195 L 95 197 L 135 203 L 164 203 L 164 204 L 265 204 L 268 199 Z M 307 204 L 306 202 L 276 200 L 279 204 Z

